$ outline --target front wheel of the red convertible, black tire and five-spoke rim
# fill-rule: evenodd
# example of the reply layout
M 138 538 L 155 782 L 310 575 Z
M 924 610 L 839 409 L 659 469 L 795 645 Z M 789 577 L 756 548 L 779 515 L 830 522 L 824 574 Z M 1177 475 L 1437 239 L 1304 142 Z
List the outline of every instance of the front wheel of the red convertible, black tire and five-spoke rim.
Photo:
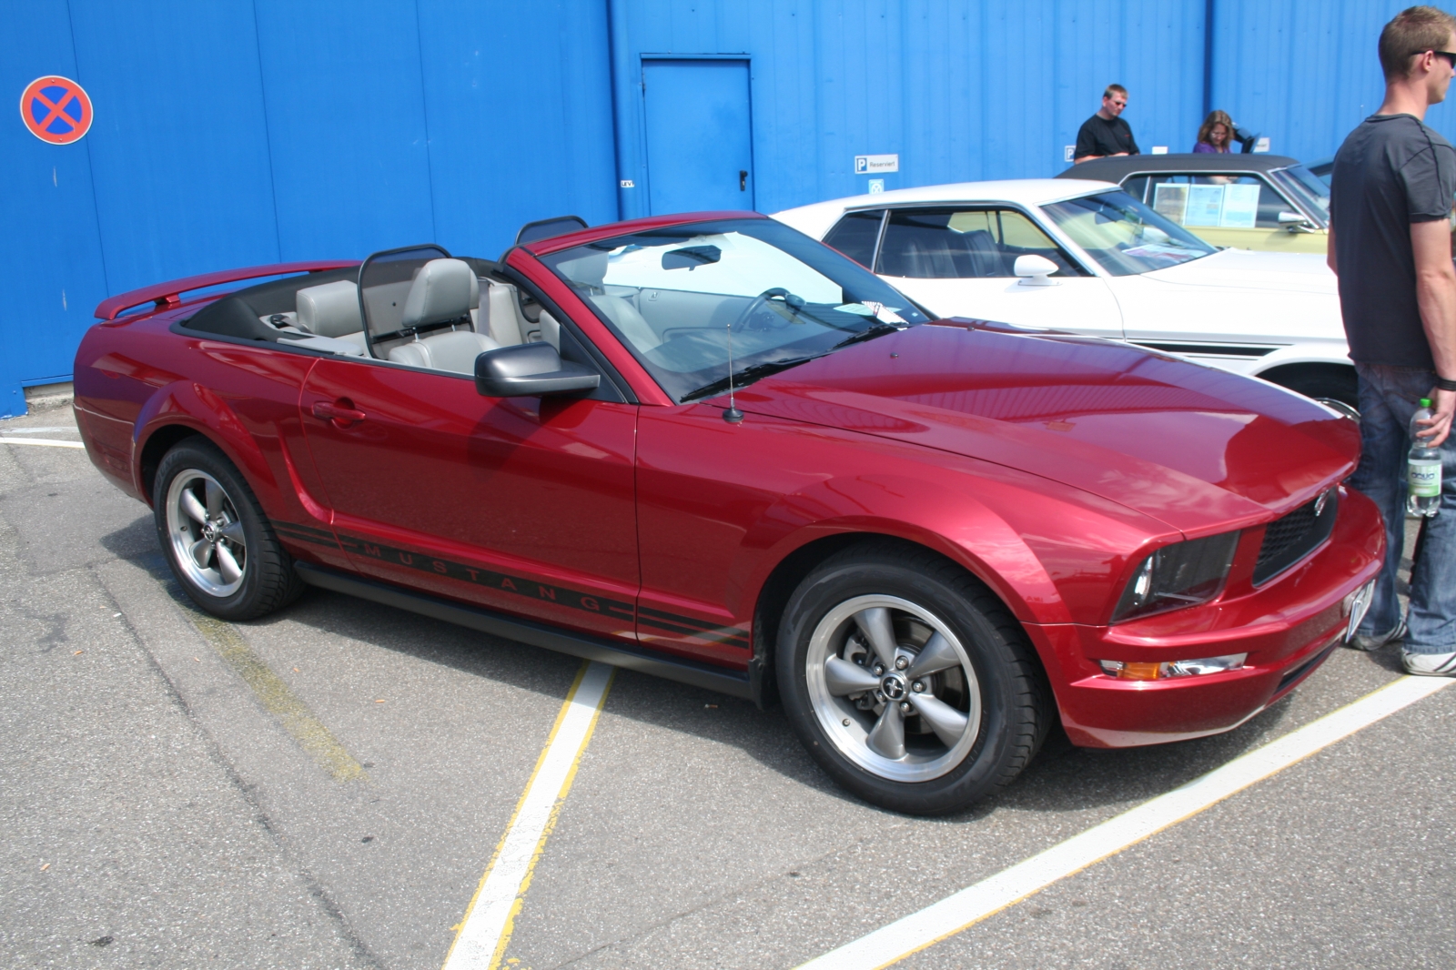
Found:
M 895 811 L 958 811 L 1003 788 L 1053 717 L 1005 607 L 946 559 L 895 543 L 849 549 L 804 580 L 778 664 L 814 759 Z

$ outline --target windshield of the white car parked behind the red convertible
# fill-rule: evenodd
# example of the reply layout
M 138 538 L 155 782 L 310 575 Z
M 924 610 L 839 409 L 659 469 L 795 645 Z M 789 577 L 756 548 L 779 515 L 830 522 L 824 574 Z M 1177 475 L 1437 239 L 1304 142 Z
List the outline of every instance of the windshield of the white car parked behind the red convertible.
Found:
M 1114 277 L 1166 269 L 1214 252 L 1127 192 L 1085 195 L 1041 208 Z

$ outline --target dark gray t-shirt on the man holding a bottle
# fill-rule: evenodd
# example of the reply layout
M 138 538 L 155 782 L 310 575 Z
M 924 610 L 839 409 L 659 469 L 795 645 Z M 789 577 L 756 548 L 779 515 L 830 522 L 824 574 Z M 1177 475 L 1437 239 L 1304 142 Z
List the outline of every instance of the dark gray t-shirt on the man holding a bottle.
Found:
M 1456 149 L 1412 115 L 1370 115 L 1335 153 L 1329 213 L 1350 357 L 1427 367 L 1411 223 L 1446 218 Z

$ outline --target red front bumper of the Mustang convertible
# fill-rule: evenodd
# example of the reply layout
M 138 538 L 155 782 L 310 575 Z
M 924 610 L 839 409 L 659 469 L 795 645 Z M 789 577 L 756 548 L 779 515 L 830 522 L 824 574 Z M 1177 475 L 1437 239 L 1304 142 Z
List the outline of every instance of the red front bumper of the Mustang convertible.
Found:
M 1338 647 L 1350 594 L 1380 571 L 1385 529 L 1364 495 L 1341 489 L 1329 540 L 1246 596 L 1117 626 L 1028 625 L 1075 744 L 1134 747 L 1219 734 L 1307 677 Z M 1188 660 L 1248 652 L 1245 666 L 1169 680 L 1118 680 L 1098 660 Z

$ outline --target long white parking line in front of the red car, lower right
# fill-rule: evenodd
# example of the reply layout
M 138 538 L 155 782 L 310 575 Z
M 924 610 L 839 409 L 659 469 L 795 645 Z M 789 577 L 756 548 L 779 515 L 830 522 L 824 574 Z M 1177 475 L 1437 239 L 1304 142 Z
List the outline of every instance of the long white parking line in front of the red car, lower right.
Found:
M 1072 836 L 1025 862 L 882 926 L 802 964 L 799 970 L 878 970 L 954 937 L 1053 883 L 1080 872 L 1249 785 L 1370 727 L 1421 698 L 1449 687 L 1450 677 L 1401 677 L 1261 749 L 1233 759 L 1165 795 Z

